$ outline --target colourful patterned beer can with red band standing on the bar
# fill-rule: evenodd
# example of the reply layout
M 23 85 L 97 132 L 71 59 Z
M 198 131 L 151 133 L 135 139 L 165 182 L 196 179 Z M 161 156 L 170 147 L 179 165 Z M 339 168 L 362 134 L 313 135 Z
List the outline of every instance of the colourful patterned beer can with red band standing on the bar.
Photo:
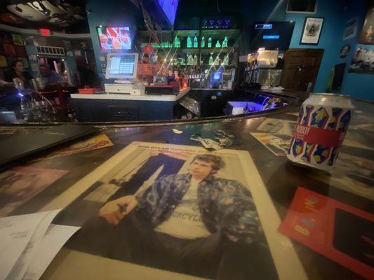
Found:
M 347 133 L 354 106 L 340 94 L 312 94 L 300 108 L 287 158 L 319 169 L 333 166 Z

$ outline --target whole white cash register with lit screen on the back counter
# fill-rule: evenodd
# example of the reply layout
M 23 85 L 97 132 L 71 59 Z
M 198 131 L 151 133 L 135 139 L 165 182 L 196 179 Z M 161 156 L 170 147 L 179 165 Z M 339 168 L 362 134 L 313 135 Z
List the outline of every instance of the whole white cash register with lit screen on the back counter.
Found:
M 136 75 L 138 71 L 138 53 L 109 53 L 105 78 L 115 79 L 114 83 L 105 83 L 107 93 L 145 94 L 144 86 L 138 87 Z

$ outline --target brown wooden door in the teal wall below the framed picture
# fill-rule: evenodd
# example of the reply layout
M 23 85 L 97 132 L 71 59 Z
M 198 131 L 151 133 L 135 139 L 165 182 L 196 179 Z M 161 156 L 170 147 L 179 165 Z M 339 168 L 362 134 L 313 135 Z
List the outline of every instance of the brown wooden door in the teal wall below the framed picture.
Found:
M 281 86 L 291 90 L 306 91 L 308 83 L 313 90 L 323 56 L 322 49 L 290 49 L 283 59 Z

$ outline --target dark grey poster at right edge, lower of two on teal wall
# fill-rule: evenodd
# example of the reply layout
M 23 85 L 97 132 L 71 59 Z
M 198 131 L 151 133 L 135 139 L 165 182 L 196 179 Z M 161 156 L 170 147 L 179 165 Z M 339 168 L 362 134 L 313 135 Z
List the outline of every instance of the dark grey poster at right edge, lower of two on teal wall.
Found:
M 374 50 L 358 47 L 354 51 L 349 72 L 374 74 Z

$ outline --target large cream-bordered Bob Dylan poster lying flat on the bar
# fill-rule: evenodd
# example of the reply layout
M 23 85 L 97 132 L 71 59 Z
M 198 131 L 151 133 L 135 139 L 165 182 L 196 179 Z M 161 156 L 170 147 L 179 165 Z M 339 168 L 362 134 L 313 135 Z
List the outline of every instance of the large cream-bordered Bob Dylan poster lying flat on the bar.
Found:
M 150 276 L 305 279 L 246 151 L 133 142 L 70 189 L 78 194 L 55 220 L 82 227 L 68 248 Z

